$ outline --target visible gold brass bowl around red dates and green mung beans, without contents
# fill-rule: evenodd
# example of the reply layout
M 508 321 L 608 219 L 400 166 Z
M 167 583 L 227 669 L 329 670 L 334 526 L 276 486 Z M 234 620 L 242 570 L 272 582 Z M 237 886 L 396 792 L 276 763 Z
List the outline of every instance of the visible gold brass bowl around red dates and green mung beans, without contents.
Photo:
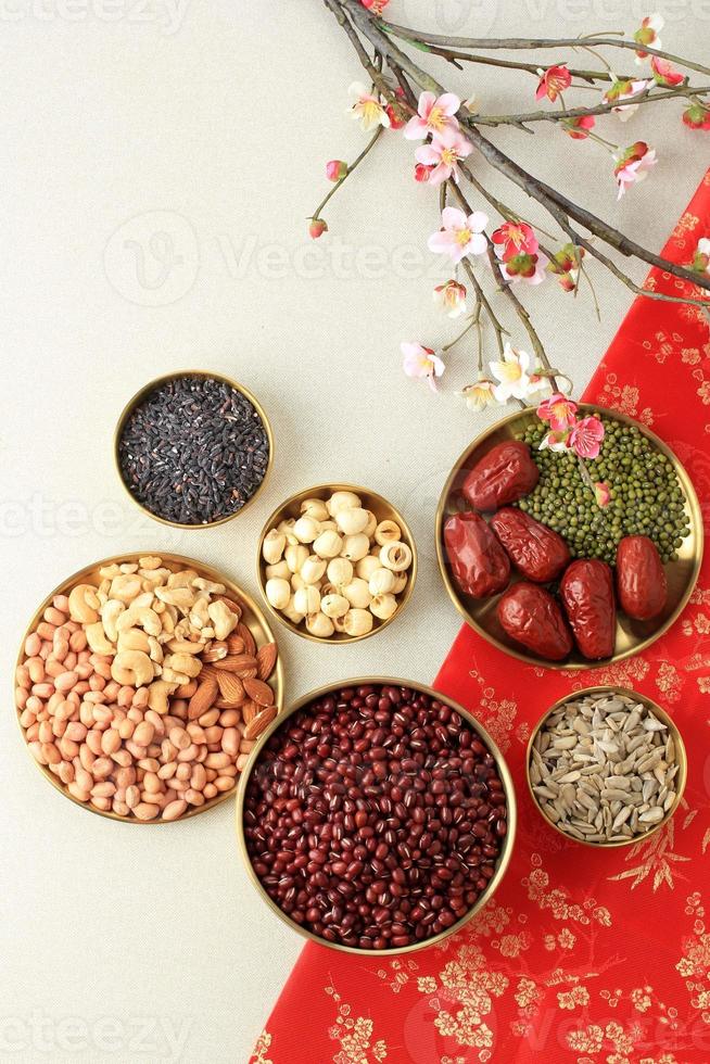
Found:
M 664 566 L 668 578 L 668 601 L 663 612 L 660 617 L 654 618 L 650 621 L 636 621 L 631 617 L 626 617 L 624 613 L 618 612 L 616 651 L 611 658 L 603 661 L 591 661 L 582 657 L 576 648 L 563 661 L 549 661 L 546 658 L 536 657 L 510 639 L 500 626 L 496 612 L 500 596 L 494 595 L 491 598 L 473 598 L 470 595 L 464 594 L 456 584 L 448 566 L 444 545 L 444 522 L 452 514 L 459 512 L 461 509 L 470 509 L 468 505 L 459 505 L 458 492 L 462 481 L 466 479 L 470 469 L 492 447 L 506 440 L 519 438 L 529 425 L 537 420 L 534 408 L 518 410 L 502 421 L 497 421 L 467 447 L 455 463 L 444 484 L 436 508 L 435 535 L 439 568 L 446 591 L 448 592 L 448 597 L 454 603 L 456 609 L 461 613 L 467 623 L 479 635 L 482 635 L 484 639 L 493 644 L 493 646 L 499 650 L 504 650 L 519 661 L 524 661 L 528 664 L 534 664 L 544 669 L 599 669 L 621 661 L 624 658 L 630 658 L 635 654 L 642 654 L 669 630 L 685 609 L 693 594 L 693 588 L 697 582 L 702 561 L 703 525 L 700 504 L 698 503 L 698 497 L 690 478 L 670 447 L 662 440 L 659 440 L 646 426 L 639 425 L 638 421 L 623 414 L 617 414 L 616 410 L 608 410 L 589 403 L 579 404 L 579 409 L 585 415 L 596 411 L 621 425 L 634 426 L 644 436 L 652 442 L 658 451 L 670 459 L 685 495 L 685 510 L 690 524 L 690 532 L 685 537 L 683 546 L 679 550 L 677 561 L 671 561 Z M 515 582 L 518 579 L 520 578 L 514 571 L 512 581 Z

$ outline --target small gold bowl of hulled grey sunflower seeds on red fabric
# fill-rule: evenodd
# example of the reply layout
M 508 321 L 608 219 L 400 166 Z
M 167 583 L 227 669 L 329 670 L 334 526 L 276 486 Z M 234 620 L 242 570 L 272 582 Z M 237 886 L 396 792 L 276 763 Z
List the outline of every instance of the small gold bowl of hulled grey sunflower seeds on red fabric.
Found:
M 561 698 L 530 736 L 532 799 L 566 838 L 587 846 L 642 843 L 681 803 L 685 746 L 664 710 L 624 687 Z

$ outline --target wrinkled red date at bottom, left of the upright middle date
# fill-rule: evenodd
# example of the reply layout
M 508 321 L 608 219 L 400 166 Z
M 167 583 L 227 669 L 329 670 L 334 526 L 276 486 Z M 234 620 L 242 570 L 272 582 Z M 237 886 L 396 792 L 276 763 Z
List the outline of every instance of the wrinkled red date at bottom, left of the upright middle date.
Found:
M 556 599 L 538 584 L 515 584 L 498 603 L 506 635 L 549 661 L 562 661 L 573 643 Z

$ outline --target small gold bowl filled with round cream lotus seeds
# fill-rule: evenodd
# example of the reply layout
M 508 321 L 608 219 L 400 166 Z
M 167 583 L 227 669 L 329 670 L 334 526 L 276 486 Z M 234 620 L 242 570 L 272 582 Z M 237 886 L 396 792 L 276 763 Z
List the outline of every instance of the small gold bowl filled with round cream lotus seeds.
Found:
M 354 643 L 385 628 L 408 603 L 417 550 L 402 515 L 354 484 L 318 484 L 270 516 L 257 575 L 274 615 L 292 632 Z

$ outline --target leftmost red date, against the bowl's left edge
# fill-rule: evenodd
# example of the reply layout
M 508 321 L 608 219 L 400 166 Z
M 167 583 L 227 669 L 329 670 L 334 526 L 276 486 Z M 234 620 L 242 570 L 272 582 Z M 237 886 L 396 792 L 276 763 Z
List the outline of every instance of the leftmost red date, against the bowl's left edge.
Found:
M 510 559 L 478 514 L 454 514 L 444 524 L 454 579 L 467 595 L 487 598 L 507 586 Z

